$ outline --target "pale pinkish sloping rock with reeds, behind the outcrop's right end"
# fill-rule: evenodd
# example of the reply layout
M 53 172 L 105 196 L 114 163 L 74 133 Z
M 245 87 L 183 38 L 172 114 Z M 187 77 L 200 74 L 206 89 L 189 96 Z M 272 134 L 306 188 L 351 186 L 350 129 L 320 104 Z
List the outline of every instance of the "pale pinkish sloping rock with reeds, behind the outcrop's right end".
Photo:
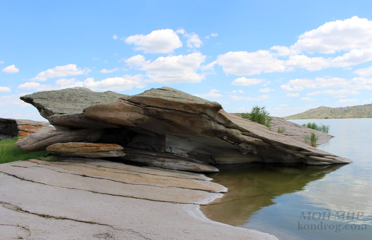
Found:
M 297 123 L 287 121 L 281 117 L 272 117 L 272 124 L 273 126 L 271 127 L 271 129 L 273 131 L 275 132 L 278 131 L 278 127 L 285 127 L 286 130 L 283 133 L 283 135 L 291 137 L 292 139 L 303 142 L 303 143 L 305 143 L 303 136 L 310 134 L 311 132 L 314 132 L 315 134 L 319 136 L 319 139 L 317 141 L 318 144 L 326 143 L 329 139 L 333 137 L 330 134 L 301 126 Z

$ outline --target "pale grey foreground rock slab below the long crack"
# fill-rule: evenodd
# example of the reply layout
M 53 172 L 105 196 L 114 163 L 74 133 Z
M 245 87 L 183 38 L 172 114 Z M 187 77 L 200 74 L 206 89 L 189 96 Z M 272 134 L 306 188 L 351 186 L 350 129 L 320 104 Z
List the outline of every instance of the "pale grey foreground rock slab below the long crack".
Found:
M 27 169 L 14 168 L 19 173 Z M 65 180 L 59 175 L 55 178 Z M 3 173 L 0 182 L 2 240 L 17 236 L 17 231 L 39 240 L 276 240 L 267 233 L 208 220 L 197 204 L 149 201 L 56 187 Z

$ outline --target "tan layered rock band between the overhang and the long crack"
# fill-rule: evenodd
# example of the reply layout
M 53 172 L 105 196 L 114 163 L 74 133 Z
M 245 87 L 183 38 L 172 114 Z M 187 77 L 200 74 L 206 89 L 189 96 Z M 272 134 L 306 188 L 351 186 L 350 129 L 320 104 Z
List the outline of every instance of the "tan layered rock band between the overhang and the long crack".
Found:
M 69 160 L 70 162 L 67 162 Z M 157 171 L 155 169 L 147 169 L 148 173 L 141 174 L 141 178 L 151 180 L 141 182 L 134 182 L 132 176 L 138 175 L 136 172 L 131 171 L 118 171 L 118 169 L 112 169 L 107 167 L 98 167 L 89 163 L 90 159 L 86 159 L 85 163 L 75 164 L 73 158 L 65 158 L 65 162 L 45 162 L 40 160 L 31 161 L 19 161 L 13 162 L 12 164 L 1 165 L 1 172 L 23 178 L 25 180 L 32 180 L 42 184 L 47 184 L 57 187 L 66 187 L 73 189 L 81 189 L 91 192 L 99 192 L 102 194 L 110 194 L 116 196 L 126 196 L 133 198 L 148 199 L 153 201 L 164 201 L 164 202 L 179 202 L 179 203 L 190 203 L 190 204 L 207 204 L 217 198 L 221 198 L 223 194 L 209 192 L 205 190 L 199 190 L 198 185 L 205 182 L 203 180 L 184 178 L 182 174 L 167 176 L 157 175 L 160 181 L 158 185 L 153 185 L 154 178 L 151 173 L 159 174 L 163 171 Z M 96 164 L 105 165 L 105 160 L 97 159 Z M 118 163 L 119 164 L 119 163 Z M 121 167 L 128 165 L 122 164 Z M 74 166 L 75 170 L 68 169 L 69 166 Z M 25 168 L 19 172 L 19 167 Z M 88 174 L 86 169 L 96 169 L 93 174 Z M 146 168 L 145 168 L 146 169 Z M 97 175 L 99 173 L 125 173 L 123 178 L 110 178 L 107 174 Z M 124 177 L 127 178 L 126 183 Z M 63 179 L 63 181 L 61 181 Z M 169 179 L 168 185 L 164 179 Z M 190 185 L 190 188 L 174 187 L 173 182 L 188 182 L 192 181 L 194 186 Z M 164 185 L 166 184 L 166 185 Z M 213 184 L 216 185 L 216 184 Z M 216 185 L 217 186 L 217 185 Z M 220 185 L 221 186 L 221 185 Z M 199 187 L 200 188 L 200 187 Z M 221 189 L 224 188 L 221 186 Z M 214 188 L 212 188 L 214 190 Z

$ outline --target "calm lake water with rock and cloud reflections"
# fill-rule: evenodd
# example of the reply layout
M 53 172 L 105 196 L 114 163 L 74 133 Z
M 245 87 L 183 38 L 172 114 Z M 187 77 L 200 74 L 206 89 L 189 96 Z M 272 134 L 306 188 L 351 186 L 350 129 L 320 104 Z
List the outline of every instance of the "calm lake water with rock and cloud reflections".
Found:
M 229 192 L 203 213 L 285 240 L 372 239 L 372 119 L 291 121 L 330 124 L 335 137 L 318 148 L 353 163 L 219 165 L 209 176 Z

